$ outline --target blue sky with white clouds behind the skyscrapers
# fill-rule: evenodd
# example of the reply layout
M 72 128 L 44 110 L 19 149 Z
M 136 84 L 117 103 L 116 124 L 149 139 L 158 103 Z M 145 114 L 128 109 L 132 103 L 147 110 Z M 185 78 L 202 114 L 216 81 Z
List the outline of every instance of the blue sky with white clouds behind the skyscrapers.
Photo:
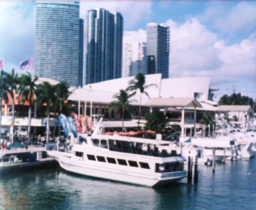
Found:
M 0 1 L 0 60 L 19 74 L 34 57 L 35 2 Z M 170 25 L 169 77 L 210 77 L 215 101 L 256 99 L 256 1 L 80 1 L 80 18 L 101 7 L 124 18 L 123 42 L 146 42 L 146 24 Z M 33 73 L 33 69 L 30 70 Z

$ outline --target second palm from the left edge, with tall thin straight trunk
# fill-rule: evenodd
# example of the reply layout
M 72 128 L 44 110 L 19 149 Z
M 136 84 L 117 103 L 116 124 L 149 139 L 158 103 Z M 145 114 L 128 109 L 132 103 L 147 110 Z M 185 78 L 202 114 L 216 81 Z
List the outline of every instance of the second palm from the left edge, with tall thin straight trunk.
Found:
M 6 84 L 8 88 L 8 93 L 12 97 L 12 138 L 13 138 L 13 131 L 14 131 L 14 92 L 17 92 L 17 86 L 20 84 L 20 77 L 18 74 L 15 74 L 14 69 L 12 69 L 6 77 Z

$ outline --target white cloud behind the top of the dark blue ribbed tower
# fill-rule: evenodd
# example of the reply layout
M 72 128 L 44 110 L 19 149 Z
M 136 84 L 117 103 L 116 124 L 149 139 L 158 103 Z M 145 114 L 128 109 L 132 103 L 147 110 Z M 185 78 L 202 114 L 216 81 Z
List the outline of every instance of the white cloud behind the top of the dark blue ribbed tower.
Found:
M 152 3 L 138 1 L 81 1 L 80 17 L 86 17 L 86 11 L 93 8 L 103 8 L 111 13 L 120 12 L 124 19 L 124 29 L 130 29 L 137 24 L 142 18 L 149 18 L 152 14 Z

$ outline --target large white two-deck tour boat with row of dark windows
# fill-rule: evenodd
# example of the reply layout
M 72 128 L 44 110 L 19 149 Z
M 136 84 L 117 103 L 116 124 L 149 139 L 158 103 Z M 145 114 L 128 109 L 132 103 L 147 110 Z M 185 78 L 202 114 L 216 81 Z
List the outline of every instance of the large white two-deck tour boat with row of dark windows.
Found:
M 163 154 L 156 148 L 164 141 L 119 135 L 81 134 L 71 153 L 48 151 L 66 171 L 107 180 L 158 186 L 187 176 L 183 156 Z M 143 151 L 142 145 L 154 145 Z

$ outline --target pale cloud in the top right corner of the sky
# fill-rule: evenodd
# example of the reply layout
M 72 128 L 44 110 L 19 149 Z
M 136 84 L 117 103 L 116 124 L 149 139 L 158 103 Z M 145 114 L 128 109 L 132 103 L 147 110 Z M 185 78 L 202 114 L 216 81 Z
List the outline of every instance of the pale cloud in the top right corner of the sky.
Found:
M 225 33 L 251 31 L 255 28 L 256 4 L 241 2 L 231 9 L 227 5 L 212 4 L 198 18 Z

